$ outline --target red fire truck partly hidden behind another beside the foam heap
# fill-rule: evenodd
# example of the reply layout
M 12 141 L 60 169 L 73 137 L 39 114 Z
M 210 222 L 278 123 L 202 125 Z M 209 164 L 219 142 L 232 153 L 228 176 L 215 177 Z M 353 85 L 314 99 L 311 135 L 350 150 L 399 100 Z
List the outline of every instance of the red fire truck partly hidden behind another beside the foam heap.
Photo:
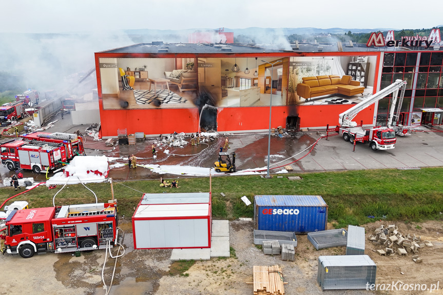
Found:
M 78 136 L 77 134 L 62 132 L 48 133 L 36 131 L 28 134 L 23 134 L 22 137 L 25 140 L 64 144 L 66 158 L 68 161 L 72 160 L 72 158 L 74 158 L 74 156 L 76 155 L 85 155 L 82 136 Z

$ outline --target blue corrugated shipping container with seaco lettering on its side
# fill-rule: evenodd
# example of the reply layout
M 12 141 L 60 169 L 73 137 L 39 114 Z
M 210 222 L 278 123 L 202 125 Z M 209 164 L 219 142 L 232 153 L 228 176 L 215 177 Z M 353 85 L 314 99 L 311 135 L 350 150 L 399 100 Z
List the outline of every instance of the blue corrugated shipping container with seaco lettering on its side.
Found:
M 256 195 L 255 228 L 308 233 L 325 230 L 328 205 L 320 195 Z

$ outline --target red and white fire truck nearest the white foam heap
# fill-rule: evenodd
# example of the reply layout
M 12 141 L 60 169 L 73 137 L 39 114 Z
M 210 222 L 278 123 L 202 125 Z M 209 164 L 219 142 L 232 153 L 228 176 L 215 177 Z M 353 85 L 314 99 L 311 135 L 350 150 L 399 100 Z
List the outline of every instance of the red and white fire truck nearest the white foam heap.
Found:
M 63 144 L 22 140 L 0 145 L 0 158 L 11 171 L 22 168 L 34 173 L 61 168 L 67 161 Z

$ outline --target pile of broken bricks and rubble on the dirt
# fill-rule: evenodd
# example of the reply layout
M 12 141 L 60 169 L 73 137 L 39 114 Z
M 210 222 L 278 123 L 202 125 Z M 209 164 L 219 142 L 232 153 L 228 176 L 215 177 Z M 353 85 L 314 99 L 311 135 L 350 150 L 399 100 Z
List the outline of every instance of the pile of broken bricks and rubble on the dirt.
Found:
M 380 255 L 394 256 L 397 253 L 402 256 L 412 253 L 414 254 L 412 258 L 415 263 L 422 261 L 417 255 L 418 249 L 433 247 L 431 242 L 422 241 L 420 236 L 417 237 L 415 234 L 410 235 L 409 233 L 403 234 L 399 232 L 395 224 L 388 225 L 388 227 L 380 225 L 379 228 L 375 229 L 375 234 L 369 236 L 369 241 L 384 247 L 384 249 L 375 250 Z

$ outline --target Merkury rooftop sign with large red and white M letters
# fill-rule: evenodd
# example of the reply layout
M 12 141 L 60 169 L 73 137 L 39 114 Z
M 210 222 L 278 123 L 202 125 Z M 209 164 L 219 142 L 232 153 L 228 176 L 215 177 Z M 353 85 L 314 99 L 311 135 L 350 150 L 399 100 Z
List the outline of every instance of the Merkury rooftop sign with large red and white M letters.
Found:
M 386 38 L 383 36 L 383 33 L 372 33 L 369 37 L 367 47 L 375 46 L 375 47 L 421 47 L 425 46 L 425 48 L 429 48 L 432 43 L 440 43 L 440 30 L 432 29 L 429 37 L 426 36 L 409 36 L 409 37 L 401 37 L 401 40 L 395 40 L 394 31 L 388 31 Z

